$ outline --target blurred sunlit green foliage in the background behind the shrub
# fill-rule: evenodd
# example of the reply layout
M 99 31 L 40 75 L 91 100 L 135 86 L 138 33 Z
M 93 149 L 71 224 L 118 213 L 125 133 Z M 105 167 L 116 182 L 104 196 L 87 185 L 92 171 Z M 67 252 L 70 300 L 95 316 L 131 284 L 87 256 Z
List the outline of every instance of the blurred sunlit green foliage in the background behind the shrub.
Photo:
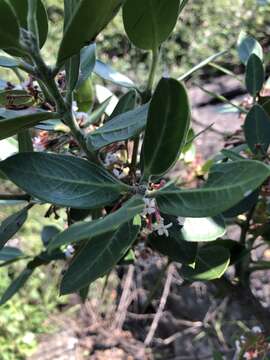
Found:
M 53 63 L 62 33 L 63 0 L 44 0 L 48 7 L 50 35 L 43 54 Z M 160 72 L 178 76 L 208 56 L 234 46 L 240 31 L 244 30 L 261 42 L 265 49 L 270 45 L 270 4 L 267 0 L 190 0 L 177 27 L 162 50 Z M 121 15 L 107 27 L 98 39 L 98 57 L 116 69 L 142 83 L 148 71 L 149 54 L 135 49 L 124 34 Z M 236 51 L 222 64 L 240 72 Z M 211 72 L 212 73 L 211 73 Z M 214 69 L 202 70 L 200 75 L 207 79 Z M 0 71 L 0 78 L 14 79 L 12 73 Z M 3 191 L 3 182 L 0 183 Z M 0 221 L 15 209 L 0 207 Z M 17 241 L 28 254 L 41 249 L 40 231 L 48 221 L 44 218 L 46 209 L 31 211 L 28 222 L 17 235 Z M 0 268 L 0 293 L 2 293 L 22 269 L 24 262 L 12 265 L 7 272 Z M 27 286 L 15 296 L 0 312 L 0 349 L 2 360 L 25 359 L 35 348 L 37 336 L 54 329 L 46 320 L 57 312 L 64 302 L 57 293 L 54 267 L 37 270 Z M 49 273 L 48 273 L 49 272 Z M 49 277 L 49 281 L 48 281 Z M 44 281 L 46 278 L 46 281 Z

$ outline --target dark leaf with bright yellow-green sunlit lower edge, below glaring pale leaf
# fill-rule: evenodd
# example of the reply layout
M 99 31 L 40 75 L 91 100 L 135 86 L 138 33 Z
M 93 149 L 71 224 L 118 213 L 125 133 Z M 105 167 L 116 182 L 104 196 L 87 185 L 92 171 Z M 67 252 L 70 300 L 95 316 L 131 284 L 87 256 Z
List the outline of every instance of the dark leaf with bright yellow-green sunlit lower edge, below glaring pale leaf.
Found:
M 222 277 L 229 264 L 229 250 L 221 246 L 206 246 L 199 249 L 195 267 L 184 265 L 180 275 L 189 281 L 215 280 Z

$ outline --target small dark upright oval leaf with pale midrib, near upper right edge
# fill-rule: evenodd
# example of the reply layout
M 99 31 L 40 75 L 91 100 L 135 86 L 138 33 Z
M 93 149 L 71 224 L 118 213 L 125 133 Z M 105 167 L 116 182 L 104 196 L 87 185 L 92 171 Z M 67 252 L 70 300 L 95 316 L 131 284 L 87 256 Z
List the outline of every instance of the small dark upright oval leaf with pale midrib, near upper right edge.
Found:
M 261 59 L 257 55 L 251 54 L 247 63 L 246 87 L 253 97 L 261 91 L 264 77 L 265 72 Z

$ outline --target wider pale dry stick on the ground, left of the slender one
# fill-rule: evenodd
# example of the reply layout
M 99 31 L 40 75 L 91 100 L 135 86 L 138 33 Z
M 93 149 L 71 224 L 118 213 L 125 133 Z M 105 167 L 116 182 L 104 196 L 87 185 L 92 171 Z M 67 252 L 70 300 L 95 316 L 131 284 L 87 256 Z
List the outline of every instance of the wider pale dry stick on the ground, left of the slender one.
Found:
M 112 326 L 114 329 L 122 329 L 124 325 L 127 316 L 128 307 L 130 305 L 131 286 L 133 282 L 134 271 L 135 271 L 134 265 L 130 265 L 124 281 L 123 292 L 116 312 L 116 317 Z

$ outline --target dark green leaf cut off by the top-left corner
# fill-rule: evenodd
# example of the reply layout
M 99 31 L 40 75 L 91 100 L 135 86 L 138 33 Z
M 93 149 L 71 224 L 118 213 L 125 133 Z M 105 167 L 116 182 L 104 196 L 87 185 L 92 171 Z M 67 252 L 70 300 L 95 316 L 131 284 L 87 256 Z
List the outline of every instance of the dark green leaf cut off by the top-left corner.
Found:
M 18 48 L 20 29 L 17 18 L 6 0 L 0 1 L 0 49 Z

